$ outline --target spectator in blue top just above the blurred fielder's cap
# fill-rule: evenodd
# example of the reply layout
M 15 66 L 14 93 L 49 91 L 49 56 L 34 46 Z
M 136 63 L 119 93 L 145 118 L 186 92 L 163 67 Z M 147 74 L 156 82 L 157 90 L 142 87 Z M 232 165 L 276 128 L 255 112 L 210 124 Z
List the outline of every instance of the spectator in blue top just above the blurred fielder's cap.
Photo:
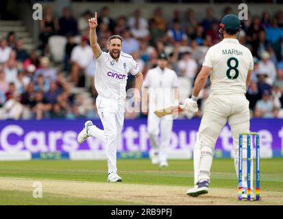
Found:
M 175 19 L 173 21 L 173 27 L 167 32 L 167 36 L 171 44 L 175 44 L 177 42 L 183 46 L 188 44 L 188 36 L 186 36 L 186 33 L 182 30 L 180 20 Z

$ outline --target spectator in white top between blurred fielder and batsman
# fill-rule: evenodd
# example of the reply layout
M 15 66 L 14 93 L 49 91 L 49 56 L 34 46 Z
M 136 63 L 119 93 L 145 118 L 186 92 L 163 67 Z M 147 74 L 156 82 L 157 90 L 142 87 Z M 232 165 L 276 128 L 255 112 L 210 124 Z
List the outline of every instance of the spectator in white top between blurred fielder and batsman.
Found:
M 195 75 L 197 74 L 198 66 L 189 51 L 186 51 L 182 55 L 182 60 L 178 62 L 178 65 L 182 75 L 190 79 L 190 83 L 193 84 L 193 79 L 195 79 Z

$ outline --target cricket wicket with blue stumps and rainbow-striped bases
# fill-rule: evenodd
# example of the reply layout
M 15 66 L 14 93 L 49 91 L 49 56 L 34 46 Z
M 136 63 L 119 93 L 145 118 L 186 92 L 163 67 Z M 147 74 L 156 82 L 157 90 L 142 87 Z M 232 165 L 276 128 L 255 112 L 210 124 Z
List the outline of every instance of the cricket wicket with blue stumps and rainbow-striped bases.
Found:
M 256 201 L 260 201 L 260 135 L 257 132 L 239 134 L 238 200 L 242 200 L 243 136 L 247 136 L 247 201 L 251 201 L 251 136 L 256 136 Z

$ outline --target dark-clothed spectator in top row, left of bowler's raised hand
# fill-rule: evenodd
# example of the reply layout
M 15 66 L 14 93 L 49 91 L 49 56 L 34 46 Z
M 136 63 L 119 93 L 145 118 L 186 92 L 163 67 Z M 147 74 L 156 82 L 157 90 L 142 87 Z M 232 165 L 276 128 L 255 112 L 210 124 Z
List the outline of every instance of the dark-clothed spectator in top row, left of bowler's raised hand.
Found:
M 71 9 L 66 7 L 62 11 L 63 16 L 59 19 L 59 34 L 66 36 L 67 34 L 77 35 L 77 21 L 73 18 Z

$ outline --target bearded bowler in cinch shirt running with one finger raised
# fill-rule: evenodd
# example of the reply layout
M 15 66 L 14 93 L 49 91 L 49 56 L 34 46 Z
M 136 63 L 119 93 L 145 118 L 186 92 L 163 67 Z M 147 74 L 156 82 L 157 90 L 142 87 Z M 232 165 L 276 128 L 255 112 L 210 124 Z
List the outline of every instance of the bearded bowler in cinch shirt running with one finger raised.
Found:
M 134 101 L 140 101 L 140 87 L 143 83 L 143 74 L 131 55 L 121 51 L 121 36 L 114 35 L 108 39 L 108 53 L 102 52 L 97 43 L 97 12 L 95 17 L 88 20 L 90 27 L 90 46 L 97 62 L 95 73 L 95 88 L 98 92 L 96 99 L 99 118 L 103 130 L 98 129 L 88 120 L 84 128 L 77 136 L 79 143 L 84 142 L 89 136 L 98 138 L 106 145 L 108 161 L 108 181 L 122 181 L 117 174 L 116 151 L 125 114 L 125 97 L 127 75 L 136 75 L 136 89 L 134 89 Z

